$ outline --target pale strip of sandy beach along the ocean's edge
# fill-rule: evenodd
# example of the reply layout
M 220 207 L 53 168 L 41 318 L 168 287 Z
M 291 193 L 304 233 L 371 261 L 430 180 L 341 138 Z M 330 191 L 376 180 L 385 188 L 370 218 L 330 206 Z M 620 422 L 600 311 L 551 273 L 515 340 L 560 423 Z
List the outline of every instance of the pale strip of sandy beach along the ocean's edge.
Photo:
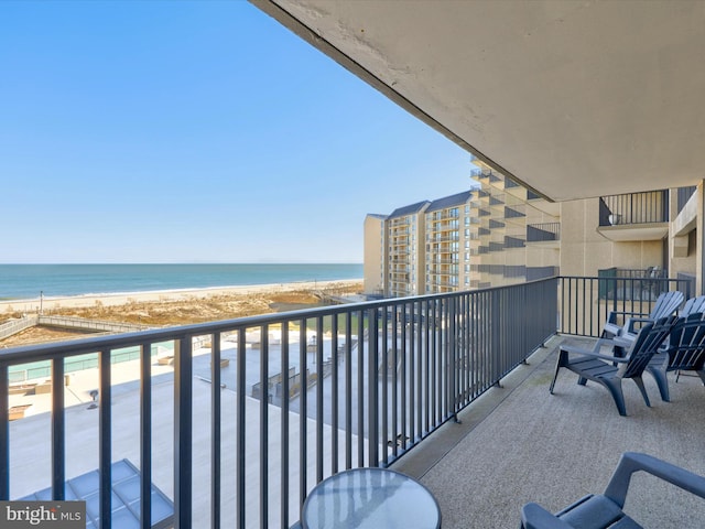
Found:
M 242 287 L 216 287 L 209 289 L 159 290 L 150 292 L 123 292 L 99 295 L 72 295 L 64 298 L 34 298 L 0 302 L 0 319 L 10 313 L 55 312 L 63 309 L 117 306 L 132 303 L 195 301 L 219 296 L 260 295 L 284 292 L 349 291 L 361 287 L 361 280 L 310 281 L 296 283 L 248 284 Z

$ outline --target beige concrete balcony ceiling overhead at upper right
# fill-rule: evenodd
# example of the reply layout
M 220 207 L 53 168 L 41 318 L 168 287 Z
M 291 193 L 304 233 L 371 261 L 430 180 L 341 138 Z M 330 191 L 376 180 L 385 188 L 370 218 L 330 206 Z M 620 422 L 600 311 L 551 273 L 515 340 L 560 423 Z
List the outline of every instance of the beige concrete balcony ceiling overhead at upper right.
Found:
M 252 1 L 549 198 L 703 179 L 705 2 Z

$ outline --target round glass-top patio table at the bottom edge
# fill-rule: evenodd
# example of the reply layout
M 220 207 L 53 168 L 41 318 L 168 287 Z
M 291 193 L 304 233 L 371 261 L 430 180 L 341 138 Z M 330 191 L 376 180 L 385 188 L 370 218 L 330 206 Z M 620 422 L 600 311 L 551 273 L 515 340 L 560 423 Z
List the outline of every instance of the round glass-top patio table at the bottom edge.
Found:
M 354 468 L 335 474 L 306 497 L 304 529 L 441 527 L 438 503 L 422 484 L 389 468 Z

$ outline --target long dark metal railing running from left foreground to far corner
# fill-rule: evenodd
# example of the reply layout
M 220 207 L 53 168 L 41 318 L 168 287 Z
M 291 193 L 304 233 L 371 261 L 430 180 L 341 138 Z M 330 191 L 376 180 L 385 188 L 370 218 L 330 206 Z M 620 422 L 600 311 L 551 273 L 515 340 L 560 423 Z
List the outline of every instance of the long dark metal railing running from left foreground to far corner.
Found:
M 317 482 L 343 468 L 390 465 L 555 333 L 557 284 L 554 278 L 4 349 L 0 499 L 47 486 L 63 499 L 72 468 L 91 457 L 76 452 L 80 438 L 96 446 L 101 514 L 110 511 L 111 463 L 132 451 L 142 490 L 154 483 L 171 497 L 176 527 L 289 528 Z M 204 339 L 207 347 L 195 345 Z M 173 373 L 153 374 L 158 345 L 173 350 Z M 119 400 L 130 386 L 115 378 L 112 364 L 126 348 L 139 357 L 128 412 Z M 93 411 L 67 406 L 56 384 L 83 355 L 98 366 Z M 51 411 L 10 422 L 10 374 L 29 363 L 47 366 Z M 173 389 L 158 390 L 163 384 Z M 97 413 L 95 429 L 76 431 L 73 418 L 86 413 Z M 22 436 L 23 421 L 45 424 L 46 435 Z M 46 473 L 28 476 L 26 461 L 12 456 L 18 445 L 50 454 Z M 149 494 L 139 510 L 150 527 Z M 110 527 L 110 517 L 100 520 Z

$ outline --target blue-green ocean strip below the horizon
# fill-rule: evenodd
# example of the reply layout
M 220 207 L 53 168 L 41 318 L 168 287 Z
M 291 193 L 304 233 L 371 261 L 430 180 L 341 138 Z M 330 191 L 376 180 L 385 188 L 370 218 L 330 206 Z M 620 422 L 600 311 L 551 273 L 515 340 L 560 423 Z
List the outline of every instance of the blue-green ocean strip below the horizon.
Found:
M 362 264 L 0 264 L 0 300 L 362 279 Z

